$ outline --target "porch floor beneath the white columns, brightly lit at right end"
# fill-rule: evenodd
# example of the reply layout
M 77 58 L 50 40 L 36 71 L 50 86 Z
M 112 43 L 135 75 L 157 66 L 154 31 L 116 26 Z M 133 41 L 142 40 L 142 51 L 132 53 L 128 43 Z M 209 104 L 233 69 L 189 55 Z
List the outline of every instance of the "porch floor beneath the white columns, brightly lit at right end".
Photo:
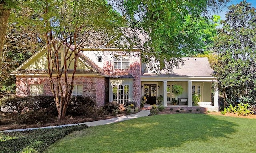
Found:
M 152 107 L 150 106 L 151 104 L 144 104 L 143 109 L 144 110 L 150 110 Z M 200 109 L 201 111 L 219 111 L 218 107 L 214 107 L 212 105 L 199 105 L 199 106 L 192 106 L 192 107 L 188 107 L 188 105 L 172 105 L 172 104 L 167 104 L 167 107 L 165 107 L 167 109 L 173 108 L 174 110 L 178 110 L 180 108 L 183 108 L 184 110 L 196 110 L 196 109 Z

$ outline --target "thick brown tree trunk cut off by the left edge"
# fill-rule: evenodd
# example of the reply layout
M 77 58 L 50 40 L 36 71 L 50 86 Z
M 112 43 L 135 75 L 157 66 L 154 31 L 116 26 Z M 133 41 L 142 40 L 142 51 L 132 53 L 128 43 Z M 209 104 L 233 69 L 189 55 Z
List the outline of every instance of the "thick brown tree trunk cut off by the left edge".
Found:
M 8 24 L 8 18 L 10 16 L 11 8 L 5 8 L 5 1 L 0 1 L 0 82 L 2 75 L 2 59 L 3 59 L 3 50 L 4 50 L 4 41 L 6 35 L 6 27 Z M 2 84 L 0 83 L 0 87 Z M 1 98 L 1 94 L 0 94 Z

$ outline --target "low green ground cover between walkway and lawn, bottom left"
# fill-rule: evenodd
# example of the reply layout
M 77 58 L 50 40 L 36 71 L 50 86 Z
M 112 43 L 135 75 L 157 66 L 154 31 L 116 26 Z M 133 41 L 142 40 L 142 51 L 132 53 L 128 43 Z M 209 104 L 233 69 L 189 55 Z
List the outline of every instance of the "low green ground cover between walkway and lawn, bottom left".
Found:
M 62 137 L 87 128 L 86 124 L 62 128 L 45 128 L 23 132 L 0 133 L 3 153 L 41 153 Z

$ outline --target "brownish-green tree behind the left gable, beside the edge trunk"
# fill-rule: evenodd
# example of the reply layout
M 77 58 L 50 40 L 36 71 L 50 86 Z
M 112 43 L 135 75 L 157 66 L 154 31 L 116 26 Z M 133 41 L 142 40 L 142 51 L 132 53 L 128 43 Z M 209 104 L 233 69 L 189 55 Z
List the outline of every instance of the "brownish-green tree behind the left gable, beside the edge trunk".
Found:
M 18 17 L 23 16 L 15 9 L 10 13 L 8 27 L 6 29 L 6 42 L 3 49 L 3 63 L 1 74 L 1 92 L 15 92 L 15 77 L 10 76 L 19 65 L 26 61 L 31 55 L 42 48 L 38 43 L 37 35 L 30 31 L 29 27 L 20 25 Z M 24 17 L 24 16 L 23 16 Z

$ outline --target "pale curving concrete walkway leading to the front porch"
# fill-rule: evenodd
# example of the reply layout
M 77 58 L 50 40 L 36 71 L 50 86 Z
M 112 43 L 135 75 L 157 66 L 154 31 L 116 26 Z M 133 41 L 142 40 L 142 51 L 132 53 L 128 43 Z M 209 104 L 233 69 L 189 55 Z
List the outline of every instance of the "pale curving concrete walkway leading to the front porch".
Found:
M 17 132 L 17 131 L 26 131 L 26 130 L 33 130 L 33 129 L 57 128 L 57 127 L 63 127 L 63 126 L 76 126 L 76 125 L 80 125 L 80 124 L 86 124 L 89 127 L 90 126 L 99 126 L 99 125 L 104 125 L 104 124 L 110 124 L 110 123 L 130 120 L 130 119 L 134 119 L 134 118 L 140 118 L 140 117 L 144 117 L 144 116 L 148 116 L 148 115 L 150 115 L 150 110 L 142 110 L 136 114 L 120 116 L 118 118 L 110 118 L 110 119 L 106 119 L 106 120 L 77 123 L 77 124 L 66 124 L 66 125 L 60 125 L 60 126 L 46 126 L 46 127 L 40 127 L 40 128 L 11 129 L 11 130 L 5 130 L 5 131 L 0 131 L 0 132 Z

